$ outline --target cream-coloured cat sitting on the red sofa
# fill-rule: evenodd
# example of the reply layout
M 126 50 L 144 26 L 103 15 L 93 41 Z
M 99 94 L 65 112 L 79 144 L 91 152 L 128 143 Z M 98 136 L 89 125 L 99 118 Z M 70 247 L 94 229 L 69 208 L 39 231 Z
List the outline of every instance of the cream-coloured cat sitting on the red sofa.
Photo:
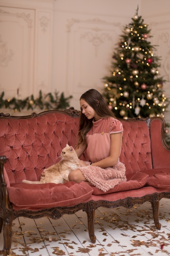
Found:
M 68 146 L 68 144 L 63 148 L 60 157 L 62 158 L 60 162 L 44 169 L 41 174 L 40 181 L 22 180 L 22 182 L 29 184 L 52 182 L 58 184 L 68 181 L 68 174 L 80 166 L 79 159 L 74 148 L 72 146 Z

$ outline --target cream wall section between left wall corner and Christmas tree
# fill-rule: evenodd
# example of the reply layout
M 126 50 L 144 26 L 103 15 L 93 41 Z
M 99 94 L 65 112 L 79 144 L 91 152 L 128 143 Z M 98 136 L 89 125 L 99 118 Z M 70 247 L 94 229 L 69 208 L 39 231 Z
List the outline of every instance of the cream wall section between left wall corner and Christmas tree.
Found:
M 140 9 L 139 0 L 54 2 L 52 88 L 73 95 L 71 106 L 79 109 L 86 90 L 103 90 L 102 77 L 110 75 L 113 50 L 137 4 Z

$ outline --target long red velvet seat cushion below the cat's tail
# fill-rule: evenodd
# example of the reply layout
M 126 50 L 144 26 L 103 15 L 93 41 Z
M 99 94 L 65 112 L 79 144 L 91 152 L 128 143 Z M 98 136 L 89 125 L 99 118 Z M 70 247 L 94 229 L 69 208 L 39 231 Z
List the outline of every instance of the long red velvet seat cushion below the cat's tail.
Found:
M 38 210 L 51 207 L 73 206 L 86 202 L 93 189 L 87 182 L 66 182 L 64 184 L 15 183 L 7 188 L 13 209 Z

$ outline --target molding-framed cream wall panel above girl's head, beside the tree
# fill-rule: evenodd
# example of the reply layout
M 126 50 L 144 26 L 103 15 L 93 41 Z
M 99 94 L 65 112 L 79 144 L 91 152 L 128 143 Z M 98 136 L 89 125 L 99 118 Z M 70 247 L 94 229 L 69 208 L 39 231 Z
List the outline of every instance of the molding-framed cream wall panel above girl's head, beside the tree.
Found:
M 112 53 L 117 40 L 115 35 L 120 33 L 122 27 L 119 21 L 110 22 L 96 17 L 67 20 L 66 90 L 74 98 L 79 99 L 79 94 L 88 88 L 101 90 L 104 63 L 108 54 Z

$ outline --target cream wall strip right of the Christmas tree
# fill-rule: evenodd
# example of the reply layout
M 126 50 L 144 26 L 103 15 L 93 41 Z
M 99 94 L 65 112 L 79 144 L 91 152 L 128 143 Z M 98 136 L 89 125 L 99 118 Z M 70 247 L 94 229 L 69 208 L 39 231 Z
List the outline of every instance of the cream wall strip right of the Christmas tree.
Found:
M 142 0 L 141 13 L 151 29 L 150 41 L 157 45 L 155 54 L 161 57 L 160 75 L 167 80 L 163 90 L 170 100 L 170 1 Z M 166 111 L 165 121 L 170 123 L 170 106 Z

